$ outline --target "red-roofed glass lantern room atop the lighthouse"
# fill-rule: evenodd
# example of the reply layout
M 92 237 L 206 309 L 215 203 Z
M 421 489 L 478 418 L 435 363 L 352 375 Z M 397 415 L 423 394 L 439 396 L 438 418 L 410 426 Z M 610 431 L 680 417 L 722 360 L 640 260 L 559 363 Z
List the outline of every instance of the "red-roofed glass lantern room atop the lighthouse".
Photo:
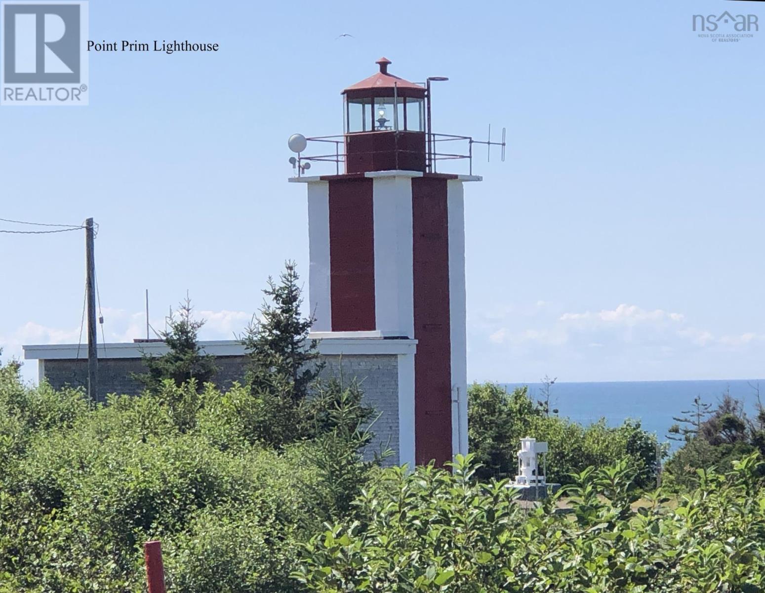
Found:
M 427 88 L 379 72 L 343 90 L 346 173 L 425 172 Z

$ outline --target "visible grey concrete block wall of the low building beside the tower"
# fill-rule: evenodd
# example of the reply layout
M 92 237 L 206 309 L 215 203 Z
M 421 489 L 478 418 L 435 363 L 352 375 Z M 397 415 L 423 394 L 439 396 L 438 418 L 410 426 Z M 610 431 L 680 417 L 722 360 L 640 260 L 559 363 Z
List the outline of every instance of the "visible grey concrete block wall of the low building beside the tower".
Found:
M 354 378 L 360 382 L 364 393 L 364 402 L 379 413 L 379 419 L 372 427 L 375 435 L 366 450 L 366 457 L 371 458 L 375 451 L 389 447 L 394 455 L 386 459 L 386 465 L 399 464 L 399 357 L 395 354 L 378 355 L 324 355 L 326 366 L 323 378 L 342 377 L 348 382 Z M 241 382 L 246 369 L 246 357 L 216 357 L 218 373 L 213 383 L 220 389 L 229 389 L 235 381 Z M 132 379 L 133 373 L 145 373 L 140 358 L 101 358 L 99 359 L 99 399 L 106 399 L 108 393 L 137 395 L 142 386 Z M 87 384 L 87 360 L 41 361 L 41 379 L 44 378 L 54 389 L 63 386 L 84 387 Z

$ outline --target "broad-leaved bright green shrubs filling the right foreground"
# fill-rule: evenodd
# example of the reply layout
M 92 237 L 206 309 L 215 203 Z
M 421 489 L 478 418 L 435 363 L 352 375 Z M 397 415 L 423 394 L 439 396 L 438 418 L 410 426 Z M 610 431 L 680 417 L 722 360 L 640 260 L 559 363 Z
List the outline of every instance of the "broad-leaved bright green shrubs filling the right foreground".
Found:
M 765 587 L 765 494 L 757 456 L 702 471 L 672 508 L 636 504 L 630 462 L 586 468 L 556 500 L 524 510 L 506 481 L 477 481 L 470 456 L 376 475 L 360 520 L 327 525 L 295 577 L 311 591 L 754 593 Z

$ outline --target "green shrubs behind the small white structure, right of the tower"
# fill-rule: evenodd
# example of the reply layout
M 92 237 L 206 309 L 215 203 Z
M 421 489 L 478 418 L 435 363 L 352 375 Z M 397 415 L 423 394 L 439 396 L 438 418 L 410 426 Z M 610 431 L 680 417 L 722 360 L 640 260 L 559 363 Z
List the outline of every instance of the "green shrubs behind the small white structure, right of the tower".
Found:
M 482 464 L 477 469 L 482 479 L 514 477 L 519 440 L 531 436 L 549 442 L 548 481 L 568 484 L 573 473 L 627 458 L 636 471 L 636 487 L 656 486 L 656 437 L 640 428 L 640 422 L 627 420 L 611 428 L 601 420 L 582 426 L 550 415 L 549 396 L 535 403 L 526 387 L 507 393 L 496 383 L 474 383 L 467 401 L 468 446 Z

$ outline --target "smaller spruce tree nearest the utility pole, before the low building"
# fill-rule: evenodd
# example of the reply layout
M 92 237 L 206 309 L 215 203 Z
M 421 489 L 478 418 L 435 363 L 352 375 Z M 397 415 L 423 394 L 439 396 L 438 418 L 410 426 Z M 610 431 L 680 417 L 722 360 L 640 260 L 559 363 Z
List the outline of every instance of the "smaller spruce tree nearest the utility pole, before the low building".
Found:
M 194 319 L 191 300 L 186 299 L 177 311 L 168 318 L 168 330 L 159 332 L 170 351 L 155 357 L 143 354 L 143 361 L 148 373 L 136 374 L 134 378 L 152 392 L 158 391 L 164 380 L 171 379 L 180 387 L 186 381 L 194 379 L 197 389 L 209 382 L 215 373 L 215 357 L 203 354 L 197 334 L 205 323 L 203 319 Z

